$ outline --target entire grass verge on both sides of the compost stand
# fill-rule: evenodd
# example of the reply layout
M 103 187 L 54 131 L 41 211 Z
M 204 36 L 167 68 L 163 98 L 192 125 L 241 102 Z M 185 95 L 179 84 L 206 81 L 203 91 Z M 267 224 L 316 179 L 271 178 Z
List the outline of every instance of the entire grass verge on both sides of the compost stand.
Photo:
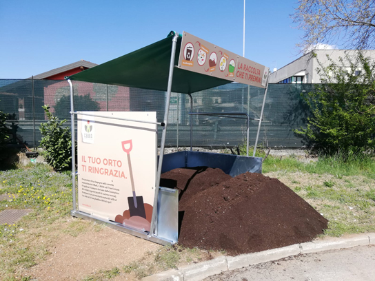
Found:
M 258 154 L 262 156 L 262 154 Z M 263 154 L 264 157 L 264 154 Z M 306 159 L 305 159 L 306 160 Z M 263 174 L 281 180 L 330 220 L 328 236 L 375 231 L 375 160 L 340 157 L 301 162 L 297 156 L 268 156 Z M 100 225 L 72 220 L 72 183 L 69 173 L 55 173 L 48 165 L 29 165 L 0 171 L 0 211 L 32 209 L 14 225 L 0 225 L 0 276 L 3 280 L 30 280 L 22 275 L 50 255 L 50 244 L 60 236 L 79 236 L 85 231 L 100 231 Z M 116 279 L 118 275 L 147 275 L 199 262 L 212 257 L 209 252 L 163 247 L 141 260 L 97 271 L 85 280 Z M 115 266 L 116 264 L 114 264 Z

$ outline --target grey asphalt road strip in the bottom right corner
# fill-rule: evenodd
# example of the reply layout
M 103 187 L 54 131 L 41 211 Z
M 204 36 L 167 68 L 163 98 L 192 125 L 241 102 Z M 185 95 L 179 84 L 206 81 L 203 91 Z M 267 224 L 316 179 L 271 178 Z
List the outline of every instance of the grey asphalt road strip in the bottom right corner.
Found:
M 375 246 L 309 253 L 226 271 L 205 281 L 375 281 Z

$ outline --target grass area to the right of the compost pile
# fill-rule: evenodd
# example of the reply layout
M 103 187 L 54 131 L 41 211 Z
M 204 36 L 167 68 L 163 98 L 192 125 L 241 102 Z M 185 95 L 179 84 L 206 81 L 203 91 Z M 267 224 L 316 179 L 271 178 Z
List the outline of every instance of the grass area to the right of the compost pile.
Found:
M 277 177 L 329 220 L 327 236 L 375 231 L 375 160 L 327 156 L 303 163 L 270 156 L 263 172 Z M 297 180 L 296 180 L 297 179 Z

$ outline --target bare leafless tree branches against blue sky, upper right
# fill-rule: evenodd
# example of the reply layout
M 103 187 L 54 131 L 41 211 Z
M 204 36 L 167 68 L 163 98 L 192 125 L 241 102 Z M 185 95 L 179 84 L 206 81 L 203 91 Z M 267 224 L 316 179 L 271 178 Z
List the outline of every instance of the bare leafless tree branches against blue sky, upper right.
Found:
M 304 52 L 318 43 L 375 48 L 374 0 L 299 0 L 298 5 L 291 17 L 304 31 L 297 44 Z

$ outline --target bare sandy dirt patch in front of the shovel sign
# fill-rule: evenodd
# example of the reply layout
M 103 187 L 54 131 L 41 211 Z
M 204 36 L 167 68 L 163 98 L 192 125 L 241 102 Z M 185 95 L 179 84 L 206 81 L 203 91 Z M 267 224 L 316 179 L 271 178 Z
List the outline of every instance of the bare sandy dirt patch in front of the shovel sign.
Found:
M 82 280 L 99 269 L 121 269 L 160 248 L 161 245 L 154 242 L 105 227 L 77 237 L 61 237 L 48 249 L 50 255 L 46 260 L 32 267 L 27 274 L 37 280 Z

